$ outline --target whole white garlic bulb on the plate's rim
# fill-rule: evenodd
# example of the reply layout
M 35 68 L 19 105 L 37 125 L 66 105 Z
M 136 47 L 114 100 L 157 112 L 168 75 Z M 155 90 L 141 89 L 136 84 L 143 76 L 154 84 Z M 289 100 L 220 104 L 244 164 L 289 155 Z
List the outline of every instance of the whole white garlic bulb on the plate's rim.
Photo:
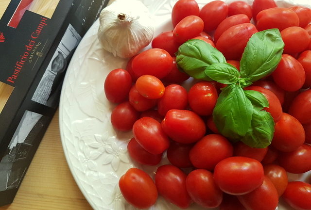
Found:
M 154 35 L 148 8 L 139 0 L 115 0 L 100 14 L 98 38 L 114 56 L 129 58 L 146 47 Z

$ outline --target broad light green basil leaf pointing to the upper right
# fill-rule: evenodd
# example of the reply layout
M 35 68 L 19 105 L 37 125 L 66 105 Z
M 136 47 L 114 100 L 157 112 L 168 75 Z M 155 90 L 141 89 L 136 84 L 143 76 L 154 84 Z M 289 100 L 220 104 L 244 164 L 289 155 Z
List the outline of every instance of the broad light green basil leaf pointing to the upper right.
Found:
M 281 60 L 283 48 L 284 42 L 278 29 L 254 33 L 242 55 L 241 77 L 254 82 L 272 73 Z

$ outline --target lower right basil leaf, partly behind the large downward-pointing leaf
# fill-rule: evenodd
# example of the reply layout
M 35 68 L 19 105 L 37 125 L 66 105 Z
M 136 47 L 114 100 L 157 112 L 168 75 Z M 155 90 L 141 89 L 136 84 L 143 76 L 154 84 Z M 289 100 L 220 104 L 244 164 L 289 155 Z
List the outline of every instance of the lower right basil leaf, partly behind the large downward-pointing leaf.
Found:
M 271 144 L 275 124 L 270 113 L 259 108 L 253 111 L 251 126 L 241 141 L 251 147 L 265 148 Z

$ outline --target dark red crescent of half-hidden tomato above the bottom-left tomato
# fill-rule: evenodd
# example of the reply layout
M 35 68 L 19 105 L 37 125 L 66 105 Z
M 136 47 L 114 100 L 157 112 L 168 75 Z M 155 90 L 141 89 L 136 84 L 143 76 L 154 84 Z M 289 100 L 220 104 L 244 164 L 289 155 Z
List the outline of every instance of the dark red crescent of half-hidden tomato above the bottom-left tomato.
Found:
M 138 144 L 135 138 L 132 138 L 127 145 L 127 151 L 134 161 L 144 165 L 156 165 L 162 160 L 161 154 L 151 154 Z

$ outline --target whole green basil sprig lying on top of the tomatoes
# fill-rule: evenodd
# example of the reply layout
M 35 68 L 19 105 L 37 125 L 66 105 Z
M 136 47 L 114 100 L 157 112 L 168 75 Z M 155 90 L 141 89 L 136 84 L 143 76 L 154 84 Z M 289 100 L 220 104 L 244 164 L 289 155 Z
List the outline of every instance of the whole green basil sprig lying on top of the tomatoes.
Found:
M 278 29 L 253 34 L 244 49 L 239 71 L 227 64 L 216 48 L 191 39 L 179 47 L 176 62 L 195 79 L 228 84 L 213 111 L 217 129 L 232 141 L 264 148 L 271 144 L 275 126 L 271 114 L 263 110 L 269 103 L 261 93 L 243 88 L 272 73 L 281 60 L 283 48 Z

